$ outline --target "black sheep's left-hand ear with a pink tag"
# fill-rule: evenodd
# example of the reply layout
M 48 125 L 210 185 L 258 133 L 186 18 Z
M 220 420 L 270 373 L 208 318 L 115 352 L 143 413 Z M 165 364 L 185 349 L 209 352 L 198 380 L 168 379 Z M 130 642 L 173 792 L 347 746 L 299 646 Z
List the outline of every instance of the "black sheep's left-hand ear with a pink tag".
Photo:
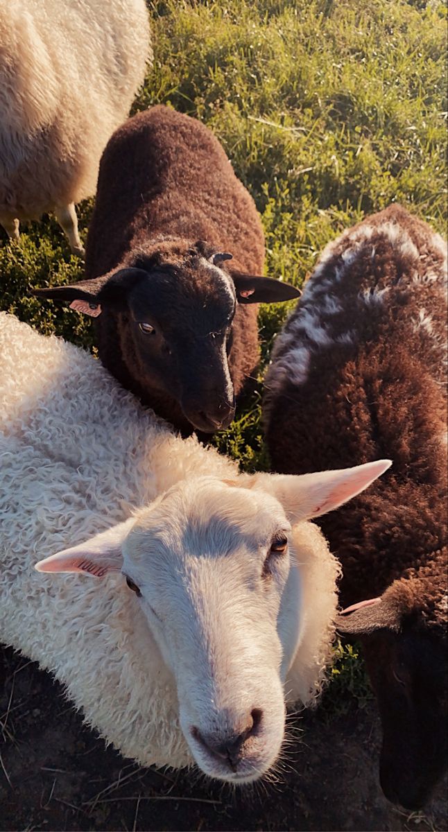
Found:
M 108 275 L 92 280 L 80 280 L 67 286 L 32 289 L 31 294 L 48 300 L 70 300 L 75 304 L 72 306 L 73 309 L 96 317 L 99 314 L 96 310 L 99 308 L 101 311 L 102 304 L 123 300 L 127 291 L 142 277 L 147 277 L 147 272 L 143 269 L 120 269 Z

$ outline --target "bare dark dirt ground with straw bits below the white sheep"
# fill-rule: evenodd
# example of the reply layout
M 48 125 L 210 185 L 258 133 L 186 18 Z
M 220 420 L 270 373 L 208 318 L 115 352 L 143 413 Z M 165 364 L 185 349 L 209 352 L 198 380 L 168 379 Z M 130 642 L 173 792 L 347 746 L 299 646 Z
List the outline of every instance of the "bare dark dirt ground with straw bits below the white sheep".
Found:
M 1 830 L 446 830 L 446 782 L 425 813 L 381 794 L 373 703 L 297 719 L 301 736 L 279 782 L 233 791 L 123 760 L 82 726 L 47 673 L 3 656 Z

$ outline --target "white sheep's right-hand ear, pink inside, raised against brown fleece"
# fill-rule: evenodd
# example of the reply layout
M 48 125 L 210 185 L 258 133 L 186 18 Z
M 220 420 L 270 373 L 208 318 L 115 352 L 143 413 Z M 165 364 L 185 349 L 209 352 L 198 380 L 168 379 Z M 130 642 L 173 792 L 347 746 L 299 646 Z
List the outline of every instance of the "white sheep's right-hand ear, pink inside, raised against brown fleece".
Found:
M 274 494 L 292 522 L 318 518 L 333 511 L 364 491 L 391 467 L 390 459 L 318 473 L 265 474 L 254 478 L 252 488 L 264 488 Z

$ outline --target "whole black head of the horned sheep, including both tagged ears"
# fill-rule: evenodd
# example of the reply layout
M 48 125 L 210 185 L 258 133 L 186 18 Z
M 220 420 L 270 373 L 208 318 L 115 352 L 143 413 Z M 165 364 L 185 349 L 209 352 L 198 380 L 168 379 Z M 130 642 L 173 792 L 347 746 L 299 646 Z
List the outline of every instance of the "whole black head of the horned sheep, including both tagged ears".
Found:
M 110 275 L 35 294 L 72 300 L 87 314 L 112 314 L 132 378 L 143 390 L 176 399 L 194 428 L 214 433 L 235 414 L 228 356 L 236 306 L 300 294 L 278 280 L 228 270 L 227 260 L 230 254 L 199 241 L 137 255 Z

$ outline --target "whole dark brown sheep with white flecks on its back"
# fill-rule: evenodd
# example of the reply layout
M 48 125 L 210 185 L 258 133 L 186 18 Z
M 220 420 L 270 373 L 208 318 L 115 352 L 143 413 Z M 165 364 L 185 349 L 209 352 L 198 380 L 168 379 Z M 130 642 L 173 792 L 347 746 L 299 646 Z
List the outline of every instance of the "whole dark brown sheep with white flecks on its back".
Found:
M 386 796 L 420 806 L 446 765 L 446 245 L 400 206 L 327 246 L 276 340 L 266 436 L 281 473 L 390 457 L 319 521 L 360 636 Z M 356 603 L 371 600 L 370 604 Z

